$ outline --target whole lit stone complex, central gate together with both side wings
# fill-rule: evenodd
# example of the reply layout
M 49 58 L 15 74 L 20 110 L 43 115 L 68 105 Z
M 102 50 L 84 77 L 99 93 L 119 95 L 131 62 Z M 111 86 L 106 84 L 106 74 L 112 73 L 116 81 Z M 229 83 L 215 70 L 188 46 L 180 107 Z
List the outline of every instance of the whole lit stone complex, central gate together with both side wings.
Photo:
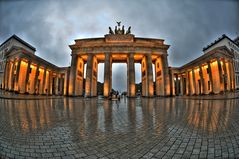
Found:
M 218 94 L 239 88 L 238 38 L 223 35 L 204 48 L 202 56 L 178 68 L 168 66 L 169 47 L 162 39 L 135 37 L 130 27 L 125 31 L 119 23 L 114 31 L 109 27 L 104 37 L 75 40 L 70 45 L 71 66 L 57 67 L 36 56 L 34 47 L 13 35 L 0 45 L 1 88 L 27 94 L 94 97 L 99 63 L 104 63 L 105 97 L 112 90 L 112 63 L 127 64 L 129 97 L 136 95 L 135 63 L 141 64 L 141 93 L 145 97 Z

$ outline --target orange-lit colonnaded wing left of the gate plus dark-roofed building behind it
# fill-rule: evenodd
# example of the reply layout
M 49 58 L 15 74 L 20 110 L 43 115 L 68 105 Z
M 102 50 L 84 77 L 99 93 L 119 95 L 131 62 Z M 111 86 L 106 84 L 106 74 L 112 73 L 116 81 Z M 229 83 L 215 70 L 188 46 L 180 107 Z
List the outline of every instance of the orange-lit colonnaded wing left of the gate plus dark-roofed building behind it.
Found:
M 0 45 L 1 88 L 16 93 L 63 95 L 67 68 L 47 62 L 35 51 L 16 35 Z

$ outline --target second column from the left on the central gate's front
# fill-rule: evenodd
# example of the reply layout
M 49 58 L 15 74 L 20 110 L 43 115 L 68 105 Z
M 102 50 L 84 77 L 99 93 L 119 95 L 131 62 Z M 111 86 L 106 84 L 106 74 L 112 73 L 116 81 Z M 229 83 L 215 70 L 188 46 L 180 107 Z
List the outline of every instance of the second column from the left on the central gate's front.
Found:
M 92 72 L 93 72 L 93 55 L 89 54 L 87 58 L 87 68 L 86 68 L 86 81 L 85 81 L 85 96 L 91 97 L 91 87 L 92 87 Z

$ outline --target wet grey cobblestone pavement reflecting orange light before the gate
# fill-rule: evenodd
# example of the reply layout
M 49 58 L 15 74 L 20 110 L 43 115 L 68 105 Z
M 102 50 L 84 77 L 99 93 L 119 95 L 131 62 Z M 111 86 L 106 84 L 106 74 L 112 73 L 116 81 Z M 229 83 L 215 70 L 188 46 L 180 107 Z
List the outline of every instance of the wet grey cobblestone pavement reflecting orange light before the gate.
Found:
M 239 100 L 0 99 L 2 158 L 239 158 Z

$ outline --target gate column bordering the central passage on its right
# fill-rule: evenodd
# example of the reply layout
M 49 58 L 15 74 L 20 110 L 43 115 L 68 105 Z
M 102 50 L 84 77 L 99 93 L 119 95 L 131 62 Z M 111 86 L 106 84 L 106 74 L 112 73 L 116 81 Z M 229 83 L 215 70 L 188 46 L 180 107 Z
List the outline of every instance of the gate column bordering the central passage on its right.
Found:
M 127 95 L 128 97 L 135 97 L 135 68 L 134 68 L 134 54 L 131 53 L 127 59 Z

